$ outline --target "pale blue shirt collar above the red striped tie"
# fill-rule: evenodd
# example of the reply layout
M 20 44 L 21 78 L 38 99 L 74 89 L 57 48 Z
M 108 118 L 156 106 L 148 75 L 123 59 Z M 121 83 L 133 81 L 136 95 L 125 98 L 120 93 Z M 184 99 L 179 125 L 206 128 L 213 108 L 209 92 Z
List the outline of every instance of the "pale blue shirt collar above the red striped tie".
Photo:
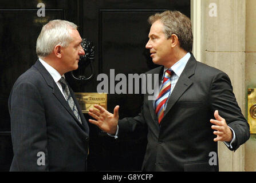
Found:
M 191 54 L 188 52 L 184 57 L 182 57 L 178 62 L 176 62 L 173 66 L 171 66 L 171 68 L 166 68 L 164 67 L 164 72 L 167 70 L 167 69 L 171 69 L 172 71 L 174 71 L 174 73 L 176 75 L 178 75 L 178 77 L 180 77 L 180 75 L 182 74 L 182 71 L 184 70 L 187 62 L 188 62 L 188 59 L 190 59 L 191 57 Z M 163 74 L 163 77 L 162 79 L 164 78 L 164 74 Z

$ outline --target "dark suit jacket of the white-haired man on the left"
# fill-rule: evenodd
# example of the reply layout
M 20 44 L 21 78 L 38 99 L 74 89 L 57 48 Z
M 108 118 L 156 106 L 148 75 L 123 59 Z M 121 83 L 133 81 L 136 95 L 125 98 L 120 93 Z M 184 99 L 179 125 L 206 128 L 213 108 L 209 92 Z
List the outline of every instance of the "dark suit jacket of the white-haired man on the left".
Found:
M 9 97 L 13 162 L 11 171 L 84 171 L 89 126 L 70 109 L 52 76 L 38 60 L 15 82 Z M 45 154 L 45 165 L 38 165 Z

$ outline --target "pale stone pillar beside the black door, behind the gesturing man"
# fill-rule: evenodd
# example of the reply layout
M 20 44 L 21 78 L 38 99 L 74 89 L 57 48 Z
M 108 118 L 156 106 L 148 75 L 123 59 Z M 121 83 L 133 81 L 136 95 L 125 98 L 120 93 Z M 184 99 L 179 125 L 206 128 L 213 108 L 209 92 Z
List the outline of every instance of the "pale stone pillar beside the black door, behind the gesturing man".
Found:
M 192 3 L 193 1 L 191 1 Z M 246 114 L 245 17 L 246 0 L 203 0 L 201 2 L 202 60 L 231 79 L 242 113 Z M 191 11 L 193 13 L 193 11 Z M 245 145 L 235 153 L 218 142 L 219 170 L 244 171 Z

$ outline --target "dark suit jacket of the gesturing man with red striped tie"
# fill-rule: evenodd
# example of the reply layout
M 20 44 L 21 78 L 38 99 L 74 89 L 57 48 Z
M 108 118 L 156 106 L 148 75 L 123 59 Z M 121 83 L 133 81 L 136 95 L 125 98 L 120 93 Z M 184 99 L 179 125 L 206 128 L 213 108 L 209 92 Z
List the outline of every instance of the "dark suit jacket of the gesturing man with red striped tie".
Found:
M 163 66 L 146 74 L 163 75 Z M 191 54 L 168 100 L 160 125 L 153 102 L 144 94 L 141 113 L 134 118 L 119 120 L 119 136 L 146 126 L 147 149 L 143 161 L 145 171 L 211 171 L 210 152 L 218 153 L 210 119 L 214 111 L 225 118 L 235 132 L 233 149 L 250 136 L 249 124 L 243 117 L 227 74 L 197 62 Z M 212 161 L 212 160 L 211 160 Z

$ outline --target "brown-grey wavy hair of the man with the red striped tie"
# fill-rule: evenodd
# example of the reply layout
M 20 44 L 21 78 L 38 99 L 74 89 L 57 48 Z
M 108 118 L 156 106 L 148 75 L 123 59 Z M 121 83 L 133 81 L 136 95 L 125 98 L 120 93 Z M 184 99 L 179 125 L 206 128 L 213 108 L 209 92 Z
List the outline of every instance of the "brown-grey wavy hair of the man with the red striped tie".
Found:
M 156 13 L 148 18 L 148 22 L 152 25 L 159 20 L 164 25 L 164 34 L 166 38 L 170 38 L 172 34 L 176 34 L 179 38 L 180 47 L 188 52 L 192 52 L 193 34 L 190 19 L 179 11 L 164 11 Z

